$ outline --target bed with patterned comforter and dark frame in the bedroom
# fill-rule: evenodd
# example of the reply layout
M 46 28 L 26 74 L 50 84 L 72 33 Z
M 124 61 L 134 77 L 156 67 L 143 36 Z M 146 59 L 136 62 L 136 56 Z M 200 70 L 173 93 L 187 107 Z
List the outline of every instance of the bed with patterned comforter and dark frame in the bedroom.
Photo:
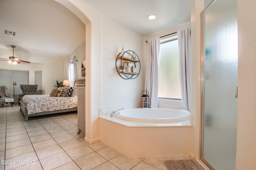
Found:
M 85 84 L 85 80 L 76 80 L 74 87 L 78 84 Z M 28 117 L 31 116 L 77 111 L 77 96 L 25 95 L 20 101 L 20 111 L 25 116 L 24 121 L 28 121 Z

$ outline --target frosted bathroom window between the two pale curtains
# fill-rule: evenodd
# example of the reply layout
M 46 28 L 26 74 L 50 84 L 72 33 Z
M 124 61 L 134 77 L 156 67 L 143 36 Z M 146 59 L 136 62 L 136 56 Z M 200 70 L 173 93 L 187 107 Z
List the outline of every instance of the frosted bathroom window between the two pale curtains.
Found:
M 177 36 L 160 41 L 158 98 L 181 100 Z

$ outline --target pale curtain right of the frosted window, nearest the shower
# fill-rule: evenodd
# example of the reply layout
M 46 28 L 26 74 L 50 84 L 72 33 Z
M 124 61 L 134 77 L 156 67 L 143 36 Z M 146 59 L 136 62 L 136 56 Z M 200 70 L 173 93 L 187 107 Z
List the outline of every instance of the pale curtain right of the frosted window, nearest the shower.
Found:
M 190 28 L 178 31 L 181 100 L 190 111 L 191 101 L 191 36 Z

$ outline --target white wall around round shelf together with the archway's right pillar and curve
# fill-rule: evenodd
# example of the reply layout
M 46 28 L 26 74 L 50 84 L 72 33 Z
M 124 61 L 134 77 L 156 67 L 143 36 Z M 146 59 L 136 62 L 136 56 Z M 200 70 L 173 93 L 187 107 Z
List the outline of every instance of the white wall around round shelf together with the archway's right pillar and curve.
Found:
M 86 130 L 85 141 L 95 143 L 100 141 L 98 116 L 99 112 L 102 112 L 99 109 L 102 107 L 110 109 L 110 107 L 120 107 L 121 105 L 134 106 L 136 102 L 139 102 L 141 83 L 144 79 L 143 71 L 138 78 L 125 81 L 121 80 L 122 78 L 114 72 L 114 69 L 116 53 L 121 50 L 118 48 L 122 46 L 126 48 L 130 46 L 130 49 L 134 49 L 143 64 L 143 45 L 141 45 L 143 38 L 125 27 L 107 20 L 99 11 L 80 0 L 55 1 L 74 12 L 86 25 L 85 105 L 86 129 L 88 130 Z M 108 85 L 109 83 L 111 85 Z

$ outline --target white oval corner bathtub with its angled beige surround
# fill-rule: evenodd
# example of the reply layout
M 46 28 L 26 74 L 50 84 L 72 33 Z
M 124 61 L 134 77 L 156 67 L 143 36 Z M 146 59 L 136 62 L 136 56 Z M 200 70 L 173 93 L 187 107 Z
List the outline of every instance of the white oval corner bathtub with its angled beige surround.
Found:
M 130 158 L 190 156 L 191 119 L 186 110 L 120 110 L 100 115 L 100 140 Z

